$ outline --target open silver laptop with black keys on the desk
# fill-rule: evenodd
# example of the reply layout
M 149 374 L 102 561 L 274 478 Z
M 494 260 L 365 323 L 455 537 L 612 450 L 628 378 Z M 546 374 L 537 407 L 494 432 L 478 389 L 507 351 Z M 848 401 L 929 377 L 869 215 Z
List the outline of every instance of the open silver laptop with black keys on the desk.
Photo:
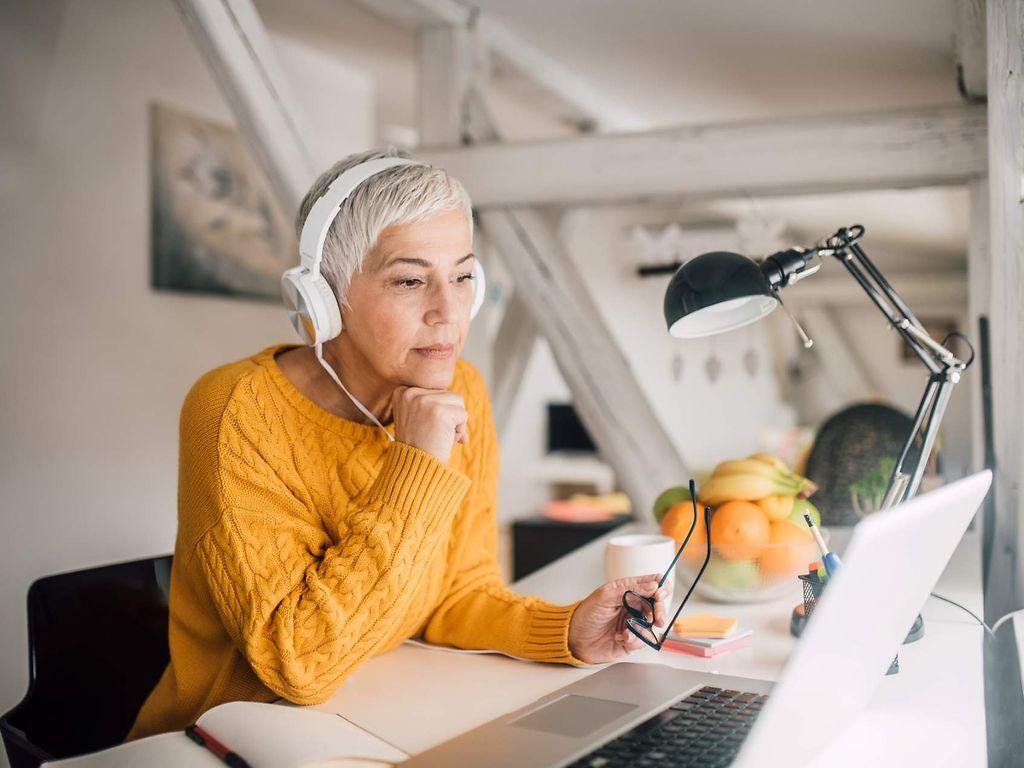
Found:
M 774 685 L 618 663 L 402 765 L 803 765 L 867 706 L 991 479 L 979 472 L 861 521 Z M 807 701 L 814 728 L 793 717 Z

